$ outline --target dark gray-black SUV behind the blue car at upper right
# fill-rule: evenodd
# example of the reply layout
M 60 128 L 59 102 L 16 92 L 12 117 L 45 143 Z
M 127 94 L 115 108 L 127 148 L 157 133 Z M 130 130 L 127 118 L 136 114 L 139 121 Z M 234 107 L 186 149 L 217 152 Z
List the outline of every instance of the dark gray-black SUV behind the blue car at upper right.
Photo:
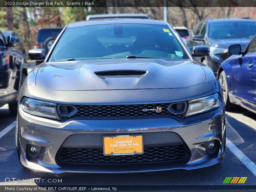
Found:
M 209 66 L 214 74 L 220 63 L 229 57 L 228 46 L 241 44 L 242 48 L 256 34 L 256 21 L 252 19 L 205 19 L 196 24 L 187 40 L 190 52 L 193 46 L 210 47 L 210 55 L 199 61 Z

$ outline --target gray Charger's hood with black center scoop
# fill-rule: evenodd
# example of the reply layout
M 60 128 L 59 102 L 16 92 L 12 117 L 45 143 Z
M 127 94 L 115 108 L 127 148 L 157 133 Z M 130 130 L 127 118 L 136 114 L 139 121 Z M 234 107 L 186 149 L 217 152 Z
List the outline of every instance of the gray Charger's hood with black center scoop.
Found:
M 116 70 L 141 70 L 146 73 L 128 76 L 95 74 Z M 99 59 L 46 62 L 36 74 L 36 86 L 59 91 L 184 88 L 204 82 L 204 69 L 193 60 Z

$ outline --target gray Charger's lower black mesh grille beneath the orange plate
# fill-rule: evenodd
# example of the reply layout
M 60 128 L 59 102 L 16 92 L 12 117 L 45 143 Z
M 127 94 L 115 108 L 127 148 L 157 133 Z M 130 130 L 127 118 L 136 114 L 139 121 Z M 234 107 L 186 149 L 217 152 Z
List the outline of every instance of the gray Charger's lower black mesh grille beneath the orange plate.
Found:
M 182 160 L 187 156 L 185 145 L 144 148 L 133 156 L 104 156 L 103 149 L 61 148 L 59 159 L 65 163 L 132 164 Z

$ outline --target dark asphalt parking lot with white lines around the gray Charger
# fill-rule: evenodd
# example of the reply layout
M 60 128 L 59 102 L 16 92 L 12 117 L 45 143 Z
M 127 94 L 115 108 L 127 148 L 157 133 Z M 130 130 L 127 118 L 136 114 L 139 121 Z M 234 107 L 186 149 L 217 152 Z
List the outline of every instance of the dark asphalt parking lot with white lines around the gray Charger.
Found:
M 127 174 L 30 171 L 23 168 L 17 158 L 15 120 L 16 117 L 8 111 L 8 105 L 0 108 L 0 185 L 233 185 L 223 184 L 226 177 L 247 177 L 246 182 L 239 185 L 256 185 L 256 115 L 240 107 L 236 111 L 226 112 L 227 138 L 230 142 L 227 142 L 224 160 L 218 165 L 190 171 Z M 4 133 L 8 126 L 10 131 Z M 58 179 L 61 182 L 55 182 Z

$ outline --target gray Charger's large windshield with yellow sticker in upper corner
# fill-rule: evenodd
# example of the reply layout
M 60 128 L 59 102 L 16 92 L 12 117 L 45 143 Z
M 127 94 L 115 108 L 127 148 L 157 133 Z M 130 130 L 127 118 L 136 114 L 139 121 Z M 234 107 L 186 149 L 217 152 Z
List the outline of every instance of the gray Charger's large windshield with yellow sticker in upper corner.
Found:
M 188 59 L 168 26 L 108 24 L 67 28 L 49 61 L 117 59 L 127 56 Z

